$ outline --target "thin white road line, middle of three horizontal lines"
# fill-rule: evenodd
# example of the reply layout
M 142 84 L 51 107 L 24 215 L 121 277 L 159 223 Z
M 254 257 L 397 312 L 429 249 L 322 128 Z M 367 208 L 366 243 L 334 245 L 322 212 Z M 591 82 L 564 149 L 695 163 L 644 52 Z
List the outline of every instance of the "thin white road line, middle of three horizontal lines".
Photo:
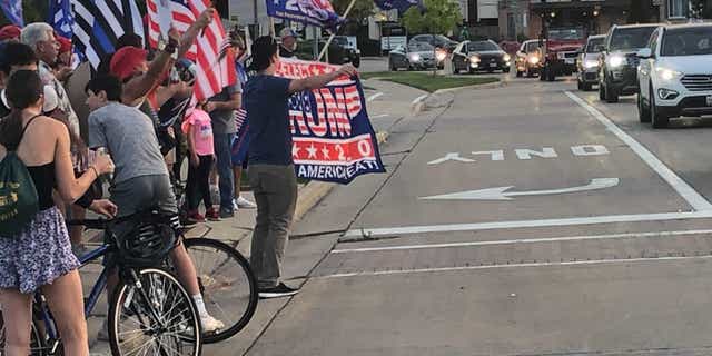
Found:
M 422 244 L 422 245 L 399 245 L 399 246 L 382 246 L 382 247 L 364 247 L 364 248 L 344 248 L 344 249 L 332 250 L 332 254 L 394 251 L 394 250 L 409 250 L 409 249 L 472 247 L 472 246 L 491 246 L 491 245 L 537 244 L 537 243 L 553 243 L 553 241 L 627 239 L 627 238 L 639 238 L 639 237 L 651 237 L 651 238 L 659 237 L 660 238 L 660 237 L 671 237 L 671 236 L 694 236 L 694 235 L 712 235 L 712 230 L 626 233 L 626 234 L 565 236 L 565 237 L 545 237 L 545 238 L 517 238 L 517 239 L 511 239 L 511 240 L 486 240 L 486 241 L 466 241 L 466 243 L 449 243 L 449 244 Z

